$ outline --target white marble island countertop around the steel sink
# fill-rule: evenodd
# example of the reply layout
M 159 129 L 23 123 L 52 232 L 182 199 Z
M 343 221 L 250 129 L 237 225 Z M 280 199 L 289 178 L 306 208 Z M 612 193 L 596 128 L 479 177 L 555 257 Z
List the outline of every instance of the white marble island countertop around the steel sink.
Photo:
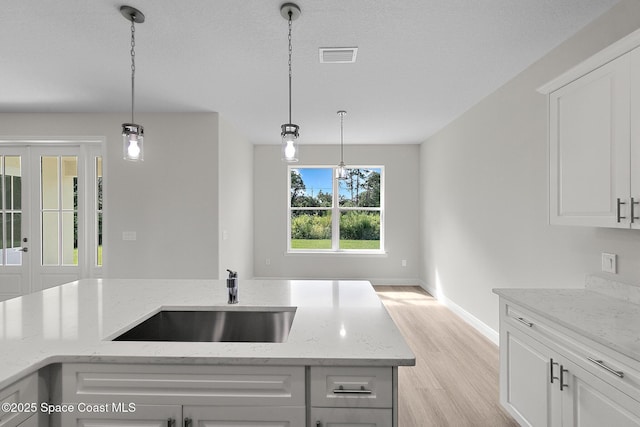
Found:
M 111 341 L 161 309 L 296 307 L 284 343 Z M 85 279 L 0 302 L 0 389 L 61 362 L 412 366 L 366 281 Z

